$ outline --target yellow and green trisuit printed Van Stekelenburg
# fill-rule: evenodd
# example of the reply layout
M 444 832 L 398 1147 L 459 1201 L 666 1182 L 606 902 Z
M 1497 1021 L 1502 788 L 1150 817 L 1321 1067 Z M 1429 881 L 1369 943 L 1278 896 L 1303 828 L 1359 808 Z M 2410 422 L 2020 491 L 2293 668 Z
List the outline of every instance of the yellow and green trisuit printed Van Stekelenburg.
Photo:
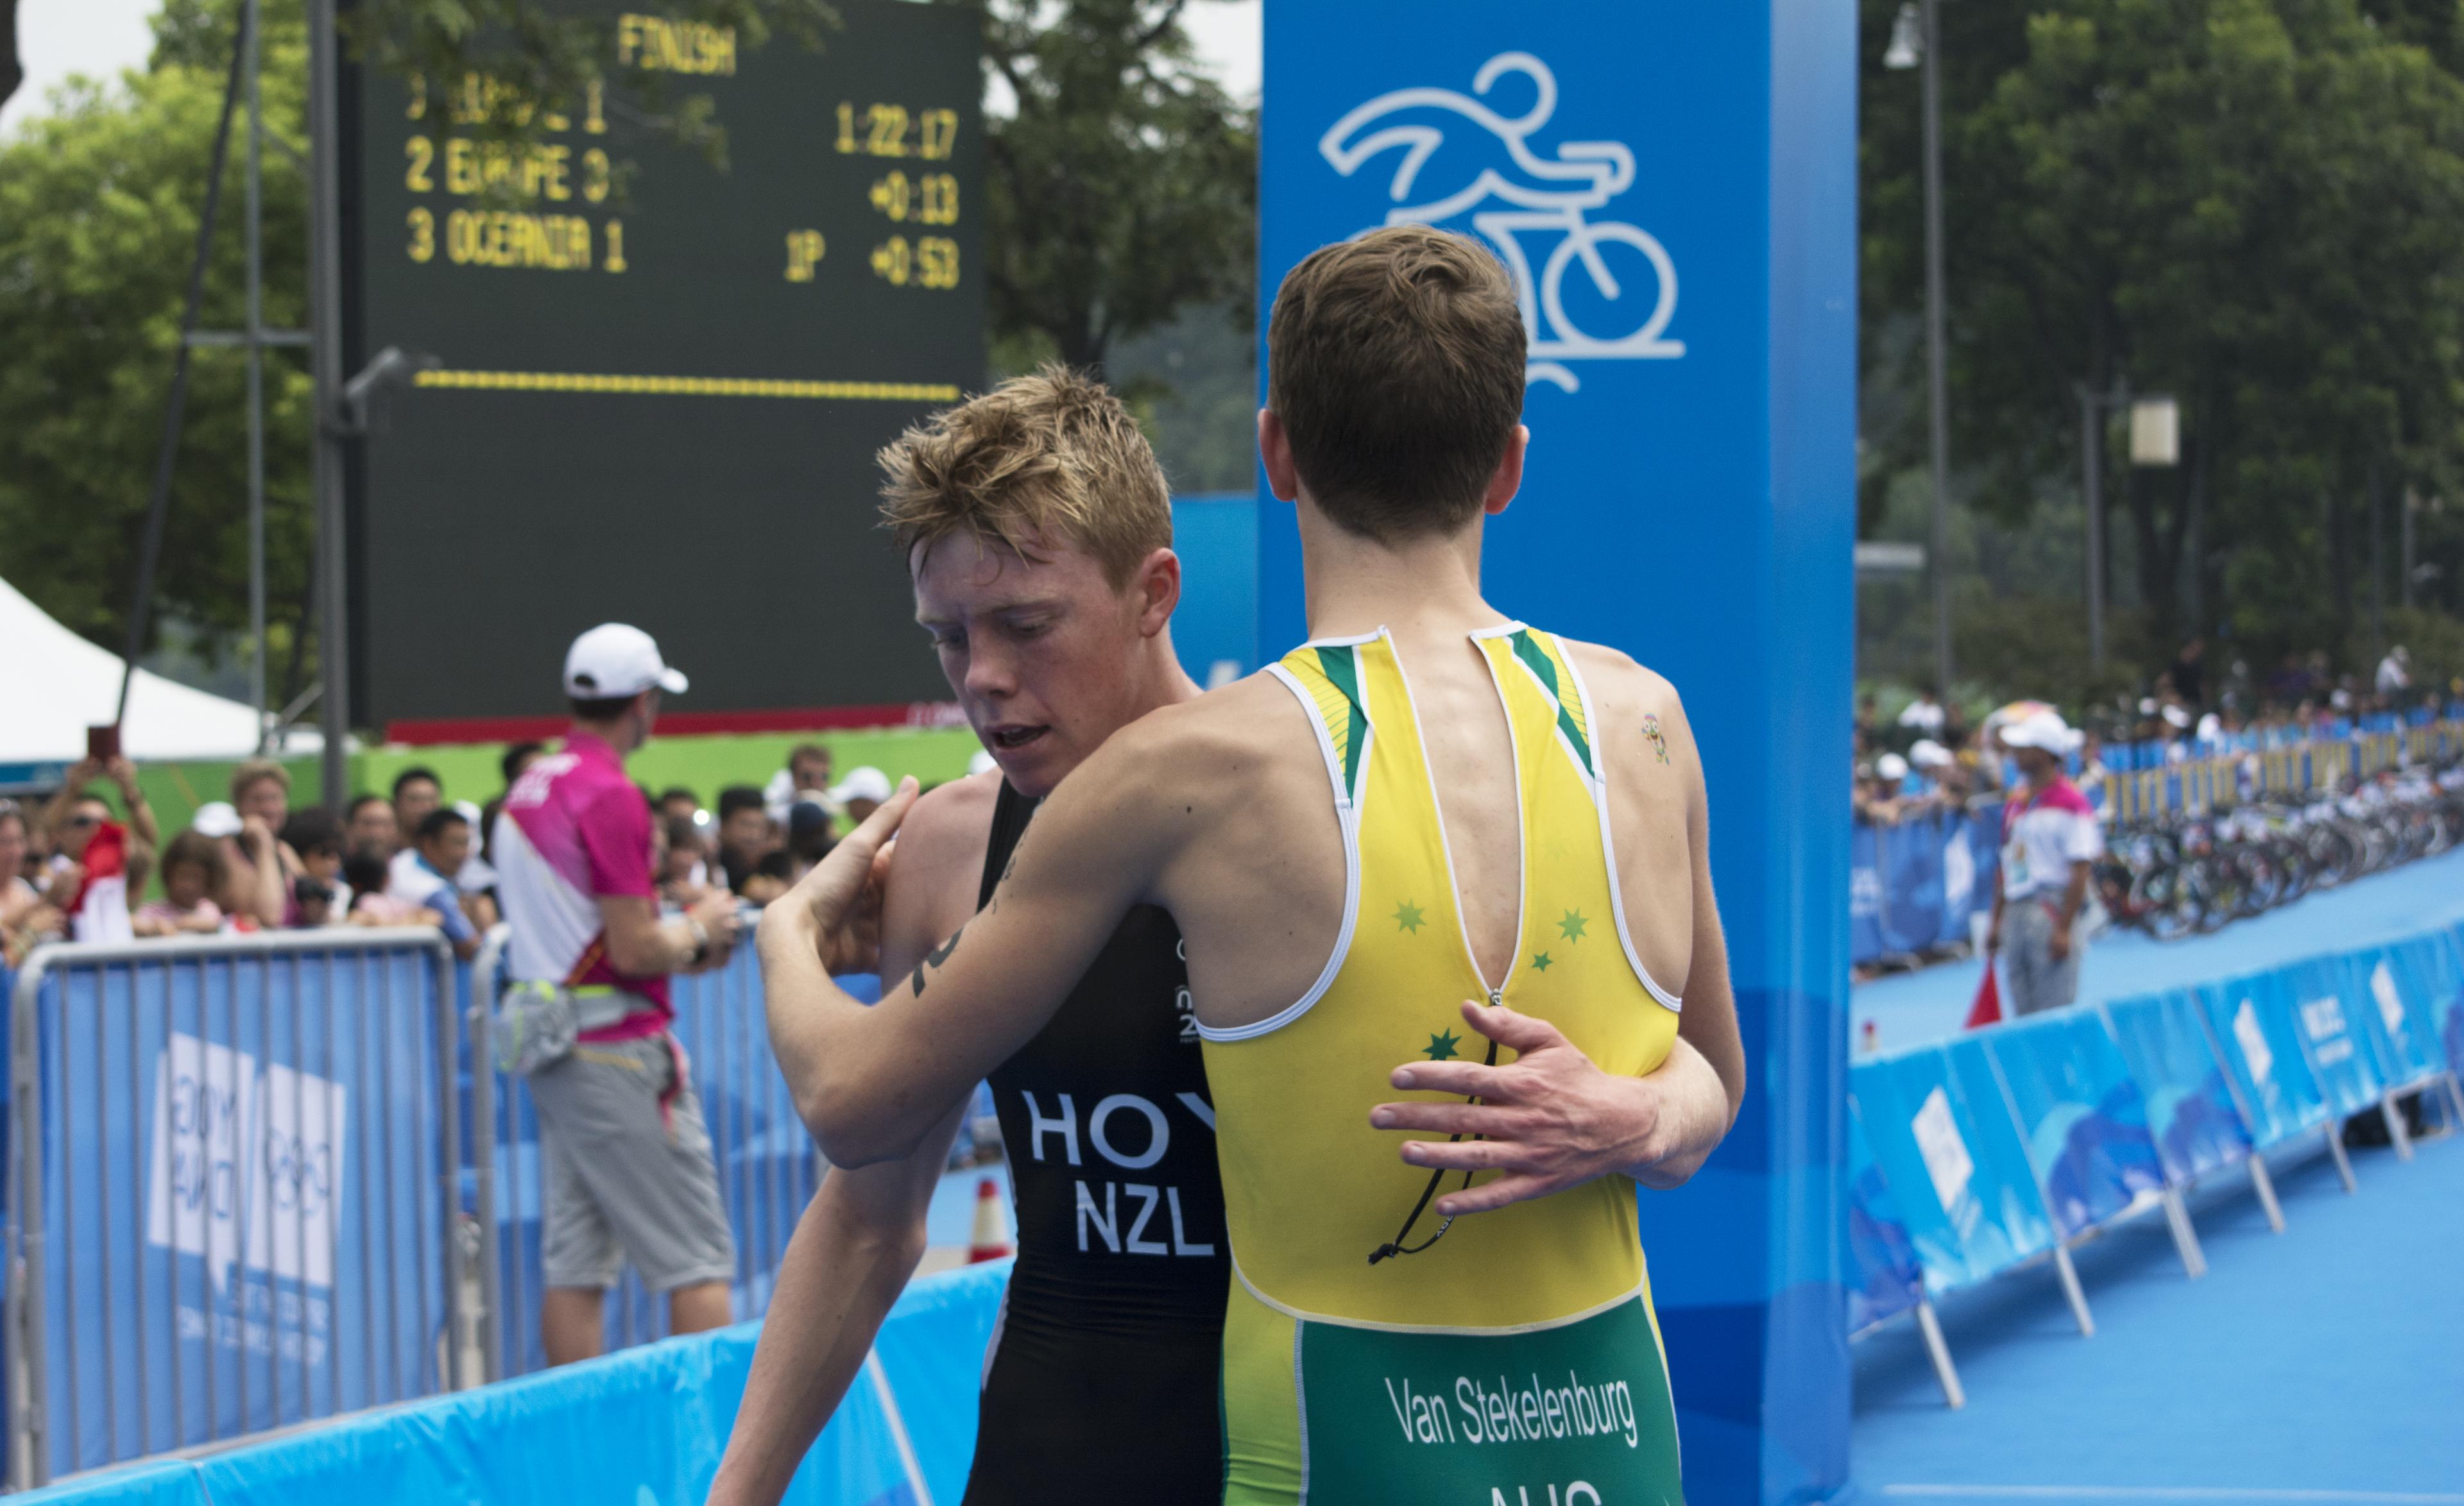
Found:
M 1397 1097 L 1402 1060 L 1483 1057 L 1461 1001 L 1550 1020 L 1621 1075 L 1656 1067 L 1678 1028 L 1678 998 L 1626 937 L 1582 675 L 1523 624 L 1473 643 L 1513 727 L 1523 808 L 1523 919 L 1498 986 L 1471 956 L 1395 641 L 1323 638 L 1271 668 L 1318 727 L 1348 897 L 1308 996 L 1254 1025 L 1200 1025 L 1234 1267 L 1230 1506 L 1680 1501 L 1631 1181 L 1464 1218 L 1370 1262 L 1429 1181 L 1370 1109 Z M 1404 1245 L 1439 1223 L 1424 1213 Z

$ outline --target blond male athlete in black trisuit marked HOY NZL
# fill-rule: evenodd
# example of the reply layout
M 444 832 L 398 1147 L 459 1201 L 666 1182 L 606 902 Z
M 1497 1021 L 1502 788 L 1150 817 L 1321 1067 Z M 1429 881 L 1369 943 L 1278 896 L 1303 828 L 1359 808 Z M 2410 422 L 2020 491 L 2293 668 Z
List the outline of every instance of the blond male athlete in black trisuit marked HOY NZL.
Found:
M 1168 631 L 1180 562 L 1163 473 L 1104 387 L 1060 372 L 1008 382 L 909 434 L 885 466 L 917 619 L 1000 762 L 907 818 L 882 905 L 882 971 L 899 976 L 993 892 L 1035 799 L 1198 685 Z M 968 1506 L 1217 1496 L 1230 1257 L 1185 979 L 1173 922 L 1129 914 L 1069 1003 L 991 1077 L 1018 1267 Z M 776 1501 L 845 1395 L 924 1252 L 958 1114 L 902 1163 L 823 1178 L 781 1264 L 712 1506 Z

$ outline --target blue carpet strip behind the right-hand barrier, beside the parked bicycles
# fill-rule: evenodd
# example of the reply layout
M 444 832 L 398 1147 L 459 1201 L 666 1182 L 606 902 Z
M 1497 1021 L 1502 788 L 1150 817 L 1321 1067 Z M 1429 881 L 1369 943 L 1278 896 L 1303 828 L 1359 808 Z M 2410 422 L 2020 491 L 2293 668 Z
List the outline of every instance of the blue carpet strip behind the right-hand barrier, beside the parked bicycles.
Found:
M 2210 937 L 2151 942 L 2139 932 L 2107 932 L 2080 964 L 2080 1003 L 2230 979 L 2457 922 L 2464 922 L 2464 848 L 2309 895 Z M 1873 1020 L 1880 1050 L 1956 1033 L 1976 996 L 1979 966 L 1951 961 L 1858 983 L 1848 1001 L 1850 1040 L 1865 1040 L 1865 1020 Z

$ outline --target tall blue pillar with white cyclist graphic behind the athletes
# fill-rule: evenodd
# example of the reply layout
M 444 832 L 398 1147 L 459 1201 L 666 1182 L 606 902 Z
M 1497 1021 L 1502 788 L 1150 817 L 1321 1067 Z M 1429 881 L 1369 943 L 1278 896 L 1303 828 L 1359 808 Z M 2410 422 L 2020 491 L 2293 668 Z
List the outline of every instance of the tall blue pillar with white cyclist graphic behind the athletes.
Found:
M 1727 1144 L 1641 1198 L 1685 1496 L 1831 1496 L 1855 7 L 1269 0 L 1264 106 L 1262 311 L 1311 249 L 1404 219 L 1488 239 L 1520 283 L 1533 446 L 1488 596 L 1683 693 L 1749 1052 Z M 1259 505 L 1264 663 L 1306 626 L 1291 508 Z

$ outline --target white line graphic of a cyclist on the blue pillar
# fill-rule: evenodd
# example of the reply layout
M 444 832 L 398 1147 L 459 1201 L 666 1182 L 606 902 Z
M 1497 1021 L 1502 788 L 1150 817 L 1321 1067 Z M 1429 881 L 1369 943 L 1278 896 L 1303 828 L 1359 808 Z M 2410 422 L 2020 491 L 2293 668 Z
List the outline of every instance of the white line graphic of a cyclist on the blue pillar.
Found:
M 1486 96 L 1506 74 L 1523 74 L 1538 89 L 1538 99 L 1515 118 L 1501 116 L 1471 94 Z M 1481 64 L 1471 76 L 1471 94 L 1454 89 L 1395 89 L 1353 108 L 1318 138 L 1318 153 L 1335 173 L 1350 177 L 1372 158 L 1400 150 L 1395 177 L 1387 182 L 1387 224 L 1441 224 L 1473 210 L 1471 224 L 1478 229 L 1506 271 L 1515 279 L 1515 298 L 1523 303 L 1523 328 L 1530 330 L 1530 365 L 1525 382 L 1555 382 L 1565 392 L 1579 389 L 1567 360 L 1676 360 L 1685 355 L 1683 340 L 1668 340 L 1668 320 L 1678 311 L 1678 269 L 1668 249 L 1641 229 L 1621 219 L 1587 219 L 1584 210 L 1597 210 L 1634 187 L 1634 150 L 1621 140 L 1560 140 L 1555 158 L 1533 150 L 1530 138 L 1557 111 L 1557 76 L 1545 62 L 1528 52 L 1501 52 Z M 1496 165 L 1481 163 L 1461 187 L 1434 197 L 1422 192 L 1422 175 L 1446 145 L 1446 123 L 1414 116 L 1461 116 L 1471 121 L 1496 145 L 1506 148 L 1515 175 L 1501 175 Z M 1473 148 L 1454 158 L 1478 160 Z M 1466 173 L 1454 158 L 1439 158 L 1439 170 L 1429 177 L 1444 182 L 1444 173 Z M 1513 205 L 1508 210 L 1476 210 L 1491 200 Z M 1540 264 L 1538 281 L 1523 246 L 1525 232 L 1555 232 L 1560 239 Z M 1592 279 L 1592 291 L 1621 313 L 1641 308 L 1641 288 L 1629 301 L 1629 281 L 1609 266 L 1604 249 L 1624 246 L 1639 251 L 1648 266 L 1653 286 L 1651 311 L 1641 328 L 1626 335 L 1592 335 L 1565 311 L 1565 274 L 1577 261 Z M 1641 269 L 1629 269 L 1641 271 Z

